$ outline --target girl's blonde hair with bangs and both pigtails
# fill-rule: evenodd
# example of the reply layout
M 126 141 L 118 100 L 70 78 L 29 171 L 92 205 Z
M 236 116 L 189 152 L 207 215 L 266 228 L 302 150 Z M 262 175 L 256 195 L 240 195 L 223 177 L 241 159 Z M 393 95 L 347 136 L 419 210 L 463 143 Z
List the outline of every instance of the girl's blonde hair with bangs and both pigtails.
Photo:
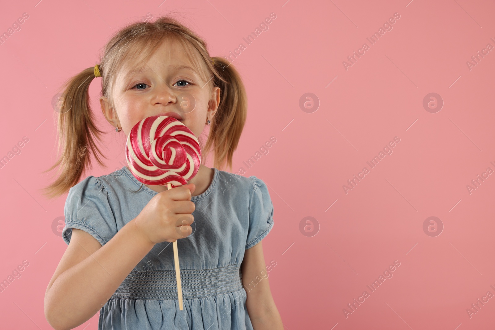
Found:
M 127 25 L 106 44 L 100 59 L 101 95 L 108 98 L 114 109 L 112 89 L 119 70 L 125 64 L 146 61 L 165 40 L 177 41 L 186 50 L 198 73 L 208 81 L 207 88 L 220 88 L 220 103 L 211 119 L 210 133 L 203 153 L 214 152 L 214 167 L 222 169 L 225 163 L 232 171 L 232 156 L 237 149 L 247 116 L 247 96 L 241 77 L 225 58 L 208 54 L 205 42 L 193 31 L 170 16 L 161 16 L 154 22 Z M 144 56 L 142 56 L 144 54 Z M 212 63 L 212 60 L 214 63 Z M 137 66 L 137 65 L 136 65 Z M 207 77 L 212 77 L 208 79 Z M 63 85 L 62 105 L 59 108 L 58 153 L 56 163 L 44 172 L 59 166 L 58 178 L 44 189 L 49 198 L 58 197 L 76 185 L 83 173 L 91 168 L 90 153 L 104 166 L 96 140 L 101 141 L 104 132 L 95 126 L 94 114 L 89 104 L 88 89 L 95 78 L 94 67 L 87 68 L 70 78 Z M 70 102 L 71 101 L 71 102 Z M 68 109 L 66 109 L 67 107 Z M 201 157 L 204 160 L 204 157 Z

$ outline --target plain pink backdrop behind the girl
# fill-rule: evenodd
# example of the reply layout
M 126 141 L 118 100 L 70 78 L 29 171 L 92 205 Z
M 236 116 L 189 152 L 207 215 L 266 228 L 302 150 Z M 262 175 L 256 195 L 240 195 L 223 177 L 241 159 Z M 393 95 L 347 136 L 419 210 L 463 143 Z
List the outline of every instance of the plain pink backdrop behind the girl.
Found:
M 495 46 L 495 5 L 372 2 L 3 5 L 0 32 L 24 12 L 29 18 L 0 46 L 0 157 L 24 136 L 29 142 L 0 169 L 0 280 L 23 260 L 29 266 L 0 293 L 2 328 L 51 329 L 43 299 L 67 247 L 52 231 L 66 195 L 47 200 L 39 192 L 52 175 L 41 172 L 56 155 L 51 98 L 67 78 L 98 62 L 100 48 L 120 27 L 148 12 L 154 20 L 177 10 L 206 40 L 211 56 L 246 46 L 243 38 L 270 13 L 277 15 L 233 61 L 249 105 L 233 172 L 244 167 L 245 176 L 269 187 L 275 226 L 263 246 L 266 263 L 277 263 L 269 282 L 284 326 L 493 329 L 495 298 L 471 318 L 466 309 L 487 291 L 495 294 L 495 175 L 471 194 L 466 186 L 488 167 L 495 170 L 495 50 L 471 70 L 466 62 L 487 44 Z M 393 29 L 370 46 L 366 38 L 394 13 L 400 18 Z M 364 43 L 370 48 L 346 70 L 343 61 Z M 99 127 L 108 132 L 109 160 L 106 168 L 95 163 L 85 177 L 110 173 L 125 160 L 125 137 L 103 118 L 99 91 L 95 79 L 90 94 Z M 316 111 L 299 107 L 305 93 L 318 98 Z M 423 107 L 429 93 L 444 101 L 436 113 Z M 269 153 L 247 169 L 243 161 L 272 136 L 277 141 Z M 371 169 L 366 162 L 394 137 L 400 142 L 393 153 Z M 343 185 L 365 166 L 370 172 L 346 194 Z M 441 220 L 441 235 L 423 230 L 430 216 Z M 305 217 L 315 219 L 312 232 L 299 229 Z M 395 260 L 400 266 L 393 277 L 371 292 L 366 285 Z M 364 290 L 370 296 L 346 317 L 343 309 Z M 77 329 L 97 327 L 98 314 Z

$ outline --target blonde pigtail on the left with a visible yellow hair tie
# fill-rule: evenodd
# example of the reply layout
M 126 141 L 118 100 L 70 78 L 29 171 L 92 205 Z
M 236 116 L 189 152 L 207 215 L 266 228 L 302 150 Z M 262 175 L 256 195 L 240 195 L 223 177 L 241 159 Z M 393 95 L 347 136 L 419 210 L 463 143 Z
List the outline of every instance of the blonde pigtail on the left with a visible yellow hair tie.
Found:
M 88 90 L 93 78 L 95 71 L 94 67 L 91 67 L 72 77 L 64 85 L 57 119 L 57 155 L 60 154 L 60 150 L 62 153 L 56 163 L 43 172 L 49 172 L 60 165 L 58 178 L 43 189 L 43 193 L 49 198 L 64 194 L 79 182 L 84 171 L 91 167 L 90 153 L 104 166 L 100 156 L 105 156 L 95 143 L 95 138 L 101 141 L 100 135 L 104 132 L 95 126 L 89 104 Z

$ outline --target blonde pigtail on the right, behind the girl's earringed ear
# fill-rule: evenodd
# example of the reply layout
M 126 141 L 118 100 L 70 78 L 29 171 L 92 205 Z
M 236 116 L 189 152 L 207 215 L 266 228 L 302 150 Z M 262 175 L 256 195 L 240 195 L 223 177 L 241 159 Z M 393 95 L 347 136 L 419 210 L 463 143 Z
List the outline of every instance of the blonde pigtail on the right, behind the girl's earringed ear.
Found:
M 213 116 L 204 149 L 214 151 L 214 167 L 221 170 L 225 163 L 232 171 L 232 157 L 246 123 L 247 95 L 241 76 L 232 63 L 223 57 L 213 57 L 214 85 L 220 88 L 220 104 Z

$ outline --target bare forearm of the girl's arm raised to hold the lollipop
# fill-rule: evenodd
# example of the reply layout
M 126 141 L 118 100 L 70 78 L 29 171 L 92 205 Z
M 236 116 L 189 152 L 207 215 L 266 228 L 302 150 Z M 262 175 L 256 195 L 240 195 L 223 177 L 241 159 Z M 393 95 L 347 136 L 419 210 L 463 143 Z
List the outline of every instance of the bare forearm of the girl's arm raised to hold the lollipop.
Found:
M 66 270 L 47 293 L 50 324 L 73 329 L 89 320 L 154 246 L 134 219 L 84 261 Z

